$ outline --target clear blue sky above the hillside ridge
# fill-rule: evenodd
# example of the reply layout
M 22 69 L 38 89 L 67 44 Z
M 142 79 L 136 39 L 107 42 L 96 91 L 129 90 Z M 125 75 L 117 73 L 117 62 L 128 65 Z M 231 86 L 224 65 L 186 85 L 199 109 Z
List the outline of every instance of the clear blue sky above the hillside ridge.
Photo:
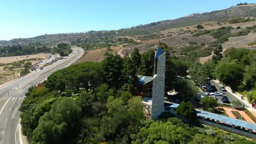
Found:
M 0 0 L 0 40 L 111 30 L 256 0 Z

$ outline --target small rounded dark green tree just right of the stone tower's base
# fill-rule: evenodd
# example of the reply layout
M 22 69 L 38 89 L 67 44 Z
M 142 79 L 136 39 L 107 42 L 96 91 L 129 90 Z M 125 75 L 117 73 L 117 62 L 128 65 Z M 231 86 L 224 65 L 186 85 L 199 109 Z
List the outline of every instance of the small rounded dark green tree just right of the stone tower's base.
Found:
M 196 111 L 193 104 L 188 101 L 182 101 L 182 103 L 177 107 L 176 113 L 185 118 L 194 118 L 196 116 Z

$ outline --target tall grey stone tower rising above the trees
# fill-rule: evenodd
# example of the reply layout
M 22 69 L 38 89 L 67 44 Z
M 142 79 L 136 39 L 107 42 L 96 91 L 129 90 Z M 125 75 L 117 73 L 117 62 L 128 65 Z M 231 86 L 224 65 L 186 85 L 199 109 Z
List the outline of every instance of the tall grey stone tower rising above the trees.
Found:
M 154 121 L 158 119 L 162 112 L 165 111 L 165 55 L 163 52 L 158 57 L 158 68 L 156 77 L 153 80 L 153 95 L 152 95 L 152 117 Z

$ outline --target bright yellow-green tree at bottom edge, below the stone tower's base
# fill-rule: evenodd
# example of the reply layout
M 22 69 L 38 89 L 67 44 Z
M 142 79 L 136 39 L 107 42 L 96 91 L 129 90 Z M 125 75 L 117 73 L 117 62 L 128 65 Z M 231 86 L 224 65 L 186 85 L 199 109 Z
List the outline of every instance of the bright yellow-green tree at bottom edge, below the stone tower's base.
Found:
M 132 135 L 132 143 L 188 143 L 193 131 L 181 120 L 169 118 L 167 122 L 156 121 L 148 128 L 141 128 L 138 134 Z

